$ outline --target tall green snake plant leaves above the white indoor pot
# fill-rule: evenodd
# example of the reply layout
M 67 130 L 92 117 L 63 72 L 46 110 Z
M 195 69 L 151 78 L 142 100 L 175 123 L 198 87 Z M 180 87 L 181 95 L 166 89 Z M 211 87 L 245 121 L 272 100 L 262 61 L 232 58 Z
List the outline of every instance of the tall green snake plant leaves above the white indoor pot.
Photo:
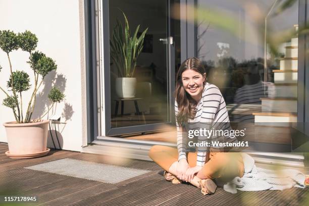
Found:
M 148 28 L 137 37 L 140 27 L 138 25 L 133 36 L 131 36 L 128 19 L 123 12 L 122 14 L 125 19 L 125 28 L 123 29 L 121 22 L 117 19 L 110 39 L 111 58 L 117 67 L 119 77 L 132 77 Z

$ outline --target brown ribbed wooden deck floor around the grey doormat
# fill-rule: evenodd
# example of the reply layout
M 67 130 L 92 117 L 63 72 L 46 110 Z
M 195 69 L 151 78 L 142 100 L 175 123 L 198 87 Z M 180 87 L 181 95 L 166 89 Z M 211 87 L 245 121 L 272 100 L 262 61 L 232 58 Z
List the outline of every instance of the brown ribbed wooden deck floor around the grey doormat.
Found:
M 41 158 L 13 160 L 5 156 L 0 144 L 0 196 L 36 196 L 27 205 L 308 205 L 308 189 L 258 191 L 231 194 L 218 188 L 203 196 L 189 184 L 174 185 L 164 180 L 162 170 L 153 162 L 115 159 L 66 150 L 52 150 Z M 108 184 L 64 175 L 24 169 L 63 158 L 151 170 L 150 173 L 117 184 Z M 2 205 L 2 203 L 0 203 Z M 16 204 L 22 205 L 22 204 Z

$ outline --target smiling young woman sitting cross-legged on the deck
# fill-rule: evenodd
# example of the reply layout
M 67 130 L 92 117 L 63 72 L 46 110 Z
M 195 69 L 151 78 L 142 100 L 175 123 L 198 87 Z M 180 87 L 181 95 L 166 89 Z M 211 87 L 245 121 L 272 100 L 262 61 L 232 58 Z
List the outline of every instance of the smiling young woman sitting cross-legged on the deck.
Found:
M 205 79 L 205 69 L 198 59 L 188 58 L 182 63 L 177 73 L 175 91 L 177 149 L 155 145 L 150 148 L 149 157 L 166 171 L 166 180 L 173 183 L 190 182 L 200 188 L 203 194 L 212 194 L 217 188 L 212 179 L 228 181 L 236 176 L 242 177 L 244 167 L 240 153 L 208 152 L 209 147 L 196 147 L 195 152 L 188 152 L 188 135 L 183 124 L 230 129 L 228 112 L 220 90 Z M 199 142 L 207 139 L 198 136 Z M 236 138 L 225 136 L 212 136 L 210 139 L 237 141 Z

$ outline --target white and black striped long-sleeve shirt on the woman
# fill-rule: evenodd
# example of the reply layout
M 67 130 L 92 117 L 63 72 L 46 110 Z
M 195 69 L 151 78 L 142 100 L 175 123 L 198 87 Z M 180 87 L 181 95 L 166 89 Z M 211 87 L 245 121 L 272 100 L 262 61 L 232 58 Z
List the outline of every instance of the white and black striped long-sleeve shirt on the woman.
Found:
M 178 106 L 175 100 L 175 115 L 178 114 Z M 213 84 L 206 83 L 202 92 L 202 97 L 196 105 L 196 114 L 194 119 L 190 119 L 187 123 L 189 130 L 199 130 L 200 128 L 214 129 L 214 130 L 230 130 L 229 116 L 226 109 L 224 98 L 219 88 Z M 176 120 L 177 127 L 177 148 L 178 148 L 178 161 L 186 159 L 188 134 L 183 131 L 182 125 Z M 208 136 L 198 135 L 198 142 L 207 140 L 215 140 L 219 142 L 235 142 L 236 138 L 228 139 L 223 136 Z M 207 147 L 195 147 L 197 151 L 197 166 L 205 164 Z

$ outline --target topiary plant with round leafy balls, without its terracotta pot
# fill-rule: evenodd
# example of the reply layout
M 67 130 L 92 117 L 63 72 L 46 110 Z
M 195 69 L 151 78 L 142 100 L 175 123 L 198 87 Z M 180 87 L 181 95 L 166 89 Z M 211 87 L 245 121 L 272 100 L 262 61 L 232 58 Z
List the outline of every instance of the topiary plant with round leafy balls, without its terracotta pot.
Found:
M 32 113 L 35 107 L 36 93 L 40 88 L 43 79 L 48 74 L 48 72 L 56 70 L 57 65 L 52 58 L 46 57 L 45 54 L 35 51 L 38 39 L 35 34 L 30 31 L 25 31 L 23 33 L 14 33 L 10 30 L 0 31 L 0 48 L 7 54 L 9 65 L 10 65 L 10 77 L 7 82 L 8 91 L 0 86 L 0 89 L 7 95 L 3 100 L 3 105 L 11 108 L 17 123 L 30 123 Z M 26 113 L 23 113 L 23 98 L 22 92 L 27 91 L 31 88 L 30 77 L 24 71 L 13 71 L 10 53 L 13 50 L 21 48 L 24 52 L 29 53 L 29 61 L 27 62 L 34 74 L 34 88 L 32 95 L 30 97 Z M 0 66 L 0 72 L 2 67 Z M 56 87 L 50 90 L 48 98 L 53 102 L 60 102 L 64 99 L 65 95 Z M 49 107 L 47 112 L 52 107 Z M 25 116 L 24 116 L 25 114 Z M 42 117 L 44 117 L 43 115 Z

